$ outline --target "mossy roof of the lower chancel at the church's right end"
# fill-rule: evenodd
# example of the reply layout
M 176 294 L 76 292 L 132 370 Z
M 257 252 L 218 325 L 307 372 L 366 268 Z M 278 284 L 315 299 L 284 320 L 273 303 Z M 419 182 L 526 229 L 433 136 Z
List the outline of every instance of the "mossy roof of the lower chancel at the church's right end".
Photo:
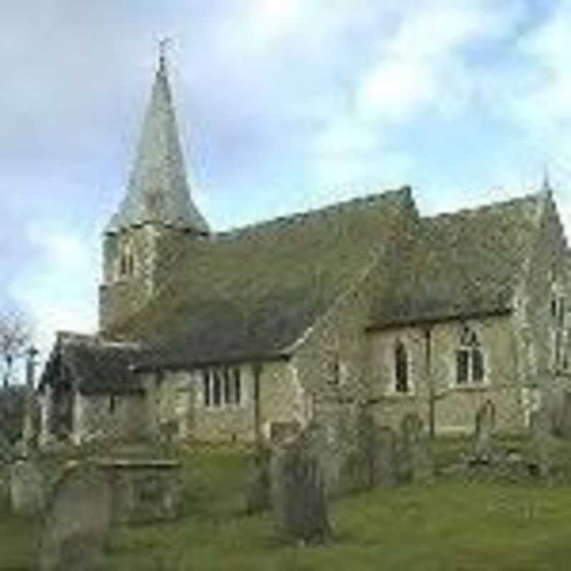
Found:
M 420 218 L 418 238 L 375 299 L 370 328 L 508 313 L 545 199 L 541 192 Z

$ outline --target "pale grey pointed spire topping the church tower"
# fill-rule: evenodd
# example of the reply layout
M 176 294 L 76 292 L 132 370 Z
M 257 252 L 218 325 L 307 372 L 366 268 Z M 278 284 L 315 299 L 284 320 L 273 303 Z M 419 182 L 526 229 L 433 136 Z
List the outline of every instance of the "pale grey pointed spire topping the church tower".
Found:
M 166 46 L 160 43 L 158 69 L 147 108 L 136 160 L 127 193 L 106 233 L 143 223 L 208 233 L 208 224 L 191 200 L 181 145 L 178 138 L 171 87 L 168 81 Z

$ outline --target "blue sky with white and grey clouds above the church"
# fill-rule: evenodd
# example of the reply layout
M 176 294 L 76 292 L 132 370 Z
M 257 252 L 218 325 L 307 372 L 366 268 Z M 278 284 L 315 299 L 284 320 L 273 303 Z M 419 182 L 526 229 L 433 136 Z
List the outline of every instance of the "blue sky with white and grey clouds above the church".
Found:
M 0 306 L 94 331 L 101 231 L 168 61 L 216 230 L 410 185 L 571 223 L 571 0 L 20 0 L 0 8 Z

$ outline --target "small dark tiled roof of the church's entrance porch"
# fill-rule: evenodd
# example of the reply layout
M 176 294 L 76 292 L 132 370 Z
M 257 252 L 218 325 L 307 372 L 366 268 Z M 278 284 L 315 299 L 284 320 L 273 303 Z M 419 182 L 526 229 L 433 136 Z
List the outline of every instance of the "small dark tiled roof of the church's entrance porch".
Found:
M 132 365 L 146 353 L 133 343 L 111 343 L 91 335 L 59 333 L 41 375 L 46 385 L 76 387 L 84 395 L 141 392 Z

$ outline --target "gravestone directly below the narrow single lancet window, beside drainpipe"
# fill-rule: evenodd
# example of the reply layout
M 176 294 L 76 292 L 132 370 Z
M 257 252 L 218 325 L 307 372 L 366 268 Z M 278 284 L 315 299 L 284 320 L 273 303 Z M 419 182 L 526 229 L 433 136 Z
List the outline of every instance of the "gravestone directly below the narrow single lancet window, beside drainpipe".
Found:
M 415 413 L 404 416 L 400 423 L 398 445 L 398 479 L 403 482 L 431 482 L 435 475 L 435 463 L 430 450 L 423 421 Z

